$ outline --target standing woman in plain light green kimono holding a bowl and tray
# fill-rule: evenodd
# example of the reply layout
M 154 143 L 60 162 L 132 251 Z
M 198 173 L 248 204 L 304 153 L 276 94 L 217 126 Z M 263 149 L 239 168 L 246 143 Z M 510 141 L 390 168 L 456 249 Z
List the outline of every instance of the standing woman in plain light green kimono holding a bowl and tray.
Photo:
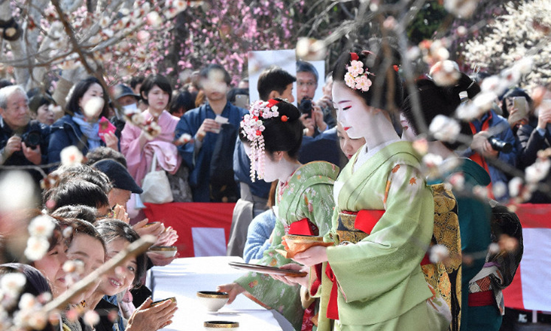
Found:
M 337 119 L 366 145 L 335 181 L 326 238 L 335 246 L 293 258 L 315 270 L 310 292 L 321 294 L 324 330 L 331 320 L 334 330 L 441 328 L 433 324 L 436 310 L 426 301 L 433 293 L 420 265 L 433 234 L 433 194 L 417 154 L 393 127 L 389 110 L 402 103 L 402 86 L 391 64 L 372 52 L 346 52 L 333 69 Z

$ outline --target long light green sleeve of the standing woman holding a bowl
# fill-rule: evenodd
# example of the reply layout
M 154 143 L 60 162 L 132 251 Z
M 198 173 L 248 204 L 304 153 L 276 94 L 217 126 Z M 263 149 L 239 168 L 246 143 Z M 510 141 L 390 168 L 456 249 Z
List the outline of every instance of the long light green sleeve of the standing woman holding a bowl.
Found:
M 384 197 L 380 197 L 385 212 L 371 234 L 356 244 L 327 248 L 342 294 L 339 314 L 343 323 L 362 318 L 384 321 L 431 295 L 419 263 L 433 234 L 432 191 L 411 165 L 396 165 L 386 178 L 386 190 L 381 192 Z M 373 190 L 366 185 L 362 194 L 369 195 L 368 188 Z M 377 209 L 372 201 L 363 204 L 364 209 Z M 341 309 L 343 299 L 346 309 Z M 374 308 L 373 316 L 355 316 L 355 310 L 365 304 Z

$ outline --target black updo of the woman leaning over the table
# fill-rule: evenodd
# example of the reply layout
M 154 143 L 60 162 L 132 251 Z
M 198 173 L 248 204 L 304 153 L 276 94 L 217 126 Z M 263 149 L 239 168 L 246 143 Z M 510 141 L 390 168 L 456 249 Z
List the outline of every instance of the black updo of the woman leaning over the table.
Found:
M 264 131 L 264 150 L 270 154 L 283 151 L 289 154 L 291 159 L 298 159 L 298 152 L 302 144 L 302 122 L 300 121 L 300 111 L 292 104 L 282 99 L 278 101 L 278 117 L 262 119 Z M 287 121 L 282 121 L 281 117 L 287 116 Z M 247 141 L 247 135 L 243 134 L 241 128 L 239 137 L 243 142 Z

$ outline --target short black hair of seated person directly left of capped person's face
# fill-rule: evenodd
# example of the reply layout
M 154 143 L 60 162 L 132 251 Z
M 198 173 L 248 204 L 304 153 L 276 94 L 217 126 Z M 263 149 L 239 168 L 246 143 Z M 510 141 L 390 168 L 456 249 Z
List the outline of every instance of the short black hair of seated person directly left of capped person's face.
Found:
M 49 199 L 54 201 L 54 206 L 50 211 L 64 205 L 89 205 L 94 208 L 109 205 L 107 194 L 98 185 L 81 179 L 71 179 L 55 188 Z

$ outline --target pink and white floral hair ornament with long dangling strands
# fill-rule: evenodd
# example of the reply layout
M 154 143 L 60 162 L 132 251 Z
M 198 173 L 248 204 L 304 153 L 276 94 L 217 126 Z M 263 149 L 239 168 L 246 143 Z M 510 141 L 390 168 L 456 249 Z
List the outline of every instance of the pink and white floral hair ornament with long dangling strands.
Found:
M 251 144 L 251 181 L 255 181 L 255 172 L 258 179 L 264 177 L 264 121 L 280 116 L 277 104 L 279 101 L 269 99 L 268 101 L 258 100 L 251 104 L 249 114 L 246 114 L 241 121 L 243 136 Z M 285 117 L 285 120 L 283 119 Z M 287 116 L 282 116 L 282 121 L 287 121 Z

